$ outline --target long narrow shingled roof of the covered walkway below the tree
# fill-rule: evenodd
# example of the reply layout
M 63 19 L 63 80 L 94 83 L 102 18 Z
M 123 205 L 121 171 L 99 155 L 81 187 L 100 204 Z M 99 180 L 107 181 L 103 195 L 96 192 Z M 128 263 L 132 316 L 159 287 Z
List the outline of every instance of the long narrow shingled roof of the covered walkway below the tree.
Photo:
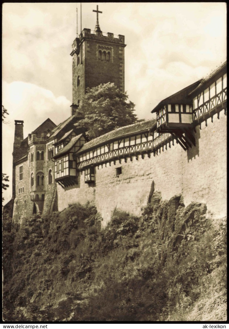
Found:
M 85 143 L 82 146 L 82 148 L 77 152 L 77 154 L 81 154 L 81 153 L 85 152 L 86 150 L 94 148 L 95 146 L 98 146 L 100 144 L 104 144 L 105 142 L 109 142 L 113 139 L 117 139 L 119 137 L 135 135 L 140 132 L 148 131 L 149 129 L 153 128 L 154 126 L 156 126 L 156 119 L 142 121 L 142 122 L 134 123 L 129 126 L 115 129 L 113 131 L 110 131 L 107 134 L 99 136 L 99 137 L 92 139 L 89 142 Z

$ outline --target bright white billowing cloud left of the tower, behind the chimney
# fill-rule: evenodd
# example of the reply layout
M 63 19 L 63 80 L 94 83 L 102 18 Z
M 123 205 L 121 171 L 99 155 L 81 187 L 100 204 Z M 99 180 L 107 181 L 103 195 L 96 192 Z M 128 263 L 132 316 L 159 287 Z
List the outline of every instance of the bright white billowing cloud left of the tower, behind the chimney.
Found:
M 35 130 L 48 117 L 59 124 L 70 116 L 71 102 L 65 96 L 55 97 L 53 92 L 36 85 L 16 81 L 3 81 L 2 104 L 8 110 L 2 125 L 2 170 L 10 176 L 10 188 L 4 191 L 6 200 L 12 196 L 12 152 L 14 139 L 14 120 L 24 121 L 24 138 Z

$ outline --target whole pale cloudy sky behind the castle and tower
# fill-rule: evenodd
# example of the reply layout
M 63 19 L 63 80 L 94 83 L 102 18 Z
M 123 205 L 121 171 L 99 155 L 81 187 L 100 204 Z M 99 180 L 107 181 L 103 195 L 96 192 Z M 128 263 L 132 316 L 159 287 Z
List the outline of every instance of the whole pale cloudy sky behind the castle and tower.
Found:
M 82 28 L 125 35 L 125 90 L 139 118 L 165 97 L 202 78 L 226 59 L 226 4 L 82 3 Z M 71 44 L 80 3 L 3 4 L 3 172 L 12 180 L 14 120 L 24 138 L 46 118 L 70 115 Z M 10 187 L 6 201 L 12 196 Z

